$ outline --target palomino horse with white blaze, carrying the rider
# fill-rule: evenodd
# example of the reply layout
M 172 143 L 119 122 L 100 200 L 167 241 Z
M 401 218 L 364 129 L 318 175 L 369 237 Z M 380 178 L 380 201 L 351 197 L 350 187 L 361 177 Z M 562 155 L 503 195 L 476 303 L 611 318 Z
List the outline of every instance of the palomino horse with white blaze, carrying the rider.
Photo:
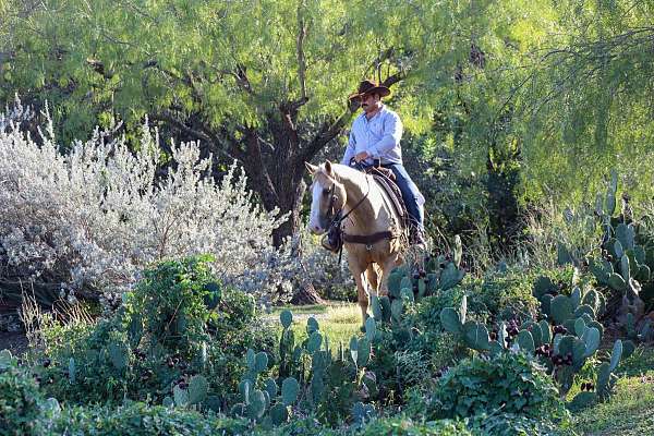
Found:
M 388 276 L 402 261 L 401 217 L 372 175 L 329 160 L 306 168 L 313 175 L 308 228 L 314 234 L 324 234 L 332 226 L 342 229 L 365 323 L 368 284 L 372 292 L 388 294 Z

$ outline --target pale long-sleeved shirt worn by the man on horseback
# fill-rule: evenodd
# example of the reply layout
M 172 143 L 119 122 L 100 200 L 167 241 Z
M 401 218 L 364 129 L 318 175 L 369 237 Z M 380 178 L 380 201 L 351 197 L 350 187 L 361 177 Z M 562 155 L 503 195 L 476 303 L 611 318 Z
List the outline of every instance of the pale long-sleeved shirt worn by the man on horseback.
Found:
M 379 159 L 382 165 L 402 164 L 401 138 L 402 121 L 396 112 L 382 106 L 382 109 L 370 120 L 363 112 L 352 123 L 350 140 L 341 164 L 350 165 L 350 159 L 361 152 L 372 155 L 366 159 L 367 164 L 372 164 L 373 159 Z

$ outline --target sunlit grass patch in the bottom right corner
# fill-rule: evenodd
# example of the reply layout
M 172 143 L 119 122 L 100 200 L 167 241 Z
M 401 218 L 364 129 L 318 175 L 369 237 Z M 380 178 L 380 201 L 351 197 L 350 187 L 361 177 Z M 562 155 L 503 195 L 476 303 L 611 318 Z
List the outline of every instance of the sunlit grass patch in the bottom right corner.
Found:
M 620 367 L 609 401 L 573 416 L 580 435 L 654 435 L 654 349 L 639 348 Z

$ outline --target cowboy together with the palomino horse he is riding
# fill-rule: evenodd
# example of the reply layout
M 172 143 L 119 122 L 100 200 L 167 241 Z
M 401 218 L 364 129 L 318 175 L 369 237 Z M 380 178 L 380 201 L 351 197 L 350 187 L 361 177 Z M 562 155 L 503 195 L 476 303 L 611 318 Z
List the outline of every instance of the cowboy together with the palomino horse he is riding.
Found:
M 407 215 L 413 223 L 412 242 L 424 243 L 424 197 L 402 166 L 402 123 L 397 113 L 382 105 L 382 97 L 389 94 L 385 86 L 363 82 L 350 96 L 362 102 L 364 112 L 354 120 L 342 165 L 306 162 L 313 179 L 308 229 L 326 235 L 325 247 L 339 253 L 346 249 L 363 323 L 368 295 L 387 295 L 390 271 L 402 262 Z M 383 186 L 388 187 L 386 179 L 379 181 L 359 171 L 375 161 L 396 175 L 407 211 L 396 207 L 395 195 Z

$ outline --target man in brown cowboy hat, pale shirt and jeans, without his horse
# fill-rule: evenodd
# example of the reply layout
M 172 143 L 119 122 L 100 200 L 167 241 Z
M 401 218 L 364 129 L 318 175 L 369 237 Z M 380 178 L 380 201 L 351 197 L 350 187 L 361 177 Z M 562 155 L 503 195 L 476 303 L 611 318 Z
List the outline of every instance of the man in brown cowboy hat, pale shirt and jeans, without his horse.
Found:
M 350 100 L 360 101 L 363 112 L 352 123 L 341 164 L 378 165 L 390 169 L 409 213 L 411 242 L 424 246 L 425 198 L 402 165 L 402 122 L 382 102 L 382 98 L 388 95 L 389 88 L 371 81 L 361 82 L 359 90 L 350 95 Z

